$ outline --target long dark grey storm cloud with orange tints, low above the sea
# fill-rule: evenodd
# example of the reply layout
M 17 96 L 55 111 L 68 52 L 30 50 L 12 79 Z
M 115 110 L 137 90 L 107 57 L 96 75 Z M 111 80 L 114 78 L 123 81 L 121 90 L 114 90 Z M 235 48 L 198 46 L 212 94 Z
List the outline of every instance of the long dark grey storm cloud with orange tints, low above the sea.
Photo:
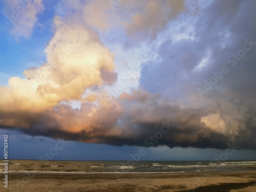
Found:
M 141 91 L 135 91 L 135 98 Z M 133 95 L 130 95 L 131 99 Z M 125 96 L 123 97 L 125 99 Z M 220 127 L 211 127 L 202 122 L 201 118 L 209 114 L 216 114 L 216 109 L 182 108 L 179 104 L 159 96 L 150 96 L 139 101 L 123 100 L 122 113 L 116 113 L 116 108 L 101 109 L 95 117 L 80 117 L 85 106 L 80 110 L 73 110 L 65 106 L 65 114 L 61 112 L 44 114 L 37 123 L 29 129 L 22 129 L 26 134 L 47 136 L 56 139 L 76 140 L 88 143 L 105 143 L 111 145 L 138 145 L 169 147 L 199 147 L 225 149 L 233 142 L 241 149 L 255 149 L 255 129 L 253 120 L 247 116 L 246 129 L 230 134 L 232 125 L 225 130 Z M 61 111 L 61 110 L 59 110 Z M 251 111 L 255 113 L 255 111 Z M 68 115 L 68 116 L 66 116 Z M 99 116 L 98 116 L 99 115 Z M 95 118 L 96 121 L 93 121 Z M 56 121 L 59 119 L 59 122 Z M 117 120 L 118 119 L 118 120 Z M 90 121 L 88 127 L 79 131 L 72 131 L 81 122 L 84 125 Z M 72 122 L 73 127 L 66 126 Z M 255 123 L 255 122 L 254 122 Z M 208 126 L 207 126 L 208 125 Z M 66 130 L 65 130 L 66 129 Z

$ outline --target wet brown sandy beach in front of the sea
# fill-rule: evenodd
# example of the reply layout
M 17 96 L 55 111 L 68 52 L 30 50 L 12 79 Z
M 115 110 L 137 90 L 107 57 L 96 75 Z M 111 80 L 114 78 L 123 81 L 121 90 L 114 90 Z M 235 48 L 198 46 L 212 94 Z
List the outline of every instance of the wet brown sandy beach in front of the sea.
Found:
M 1 174 L 3 176 L 3 174 Z M 30 178 L 29 178 L 30 177 Z M 4 186 L 2 186 L 2 189 Z M 191 190 L 194 189 L 194 190 Z M 2 190 L 1 190 L 2 191 Z M 179 174 L 10 173 L 3 191 L 256 191 L 256 172 Z

